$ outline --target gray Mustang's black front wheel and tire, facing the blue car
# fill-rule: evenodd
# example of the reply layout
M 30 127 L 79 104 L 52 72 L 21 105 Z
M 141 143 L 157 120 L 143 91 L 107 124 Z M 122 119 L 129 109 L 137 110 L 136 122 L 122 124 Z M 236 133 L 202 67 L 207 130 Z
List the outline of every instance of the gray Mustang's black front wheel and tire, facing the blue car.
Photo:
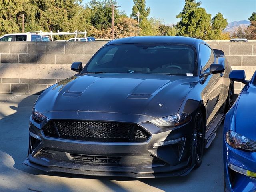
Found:
M 192 162 L 194 162 L 196 168 L 200 167 L 202 164 L 204 152 L 205 123 L 203 117 L 202 112 L 198 111 L 194 119 Z

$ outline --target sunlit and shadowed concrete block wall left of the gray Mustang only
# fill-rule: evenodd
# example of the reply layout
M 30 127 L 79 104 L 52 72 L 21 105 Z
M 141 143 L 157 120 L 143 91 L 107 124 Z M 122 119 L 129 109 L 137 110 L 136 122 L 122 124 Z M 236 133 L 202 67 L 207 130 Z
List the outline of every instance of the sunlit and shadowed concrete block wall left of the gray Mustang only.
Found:
M 0 93 L 35 94 L 76 72 L 106 41 L 0 42 Z

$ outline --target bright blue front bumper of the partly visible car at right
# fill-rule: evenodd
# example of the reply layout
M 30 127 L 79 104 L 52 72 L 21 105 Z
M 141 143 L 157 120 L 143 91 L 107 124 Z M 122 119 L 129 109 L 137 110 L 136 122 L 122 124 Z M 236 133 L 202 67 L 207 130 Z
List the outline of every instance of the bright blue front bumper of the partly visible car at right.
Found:
M 244 170 L 256 172 L 256 152 L 234 149 L 224 141 L 223 153 L 225 191 L 255 192 L 256 178 L 234 171 L 228 164 L 232 164 Z

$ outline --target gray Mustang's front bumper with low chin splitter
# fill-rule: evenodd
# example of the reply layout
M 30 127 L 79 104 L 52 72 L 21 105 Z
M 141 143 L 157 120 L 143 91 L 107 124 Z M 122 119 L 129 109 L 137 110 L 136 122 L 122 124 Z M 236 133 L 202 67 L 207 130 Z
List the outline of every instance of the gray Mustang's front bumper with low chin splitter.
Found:
M 181 176 L 193 168 L 192 121 L 174 130 L 138 123 L 150 133 L 146 142 L 88 142 L 46 137 L 42 131 L 44 126 L 30 120 L 30 132 L 40 138 L 30 135 L 28 158 L 24 164 L 33 168 L 47 172 L 133 178 Z M 153 148 L 156 142 L 181 137 L 186 138 L 182 143 Z M 74 155 L 80 158 L 74 158 Z M 118 157 L 118 161 L 113 162 L 113 157 Z

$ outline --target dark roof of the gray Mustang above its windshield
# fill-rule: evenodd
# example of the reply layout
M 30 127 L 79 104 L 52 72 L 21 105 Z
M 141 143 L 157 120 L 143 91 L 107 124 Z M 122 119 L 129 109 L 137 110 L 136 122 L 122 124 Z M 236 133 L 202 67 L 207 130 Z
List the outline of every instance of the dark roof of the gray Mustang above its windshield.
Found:
M 107 45 L 132 43 L 185 44 L 196 46 L 203 40 L 182 36 L 134 36 L 110 41 Z M 204 42 L 206 44 L 206 42 Z

